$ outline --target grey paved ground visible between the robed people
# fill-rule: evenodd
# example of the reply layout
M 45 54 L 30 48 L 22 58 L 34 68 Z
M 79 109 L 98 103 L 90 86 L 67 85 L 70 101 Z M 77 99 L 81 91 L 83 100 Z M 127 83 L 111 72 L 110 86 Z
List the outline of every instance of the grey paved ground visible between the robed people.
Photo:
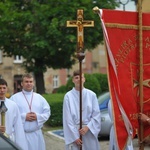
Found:
M 44 133 L 45 143 L 46 143 L 46 150 L 64 150 L 65 144 L 64 139 L 51 134 L 51 132 Z M 138 139 L 133 140 L 134 150 L 139 150 L 138 147 Z M 108 139 L 101 139 L 100 140 L 101 150 L 108 150 L 109 141 Z M 150 146 L 145 146 L 144 150 L 150 150 Z

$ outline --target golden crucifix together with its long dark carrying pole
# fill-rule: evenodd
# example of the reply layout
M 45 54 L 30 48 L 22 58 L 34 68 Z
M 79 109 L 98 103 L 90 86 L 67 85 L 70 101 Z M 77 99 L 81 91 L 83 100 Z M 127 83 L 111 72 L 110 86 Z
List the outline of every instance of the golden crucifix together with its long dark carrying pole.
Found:
M 83 10 L 77 10 L 77 20 L 67 21 L 67 27 L 76 27 L 77 28 L 77 58 L 79 60 L 79 69 L 80 69 L 80 104 L 79 104 L 79 113 L 80 113 L 80 129 L 82 128 L 82 60 L 85 57 L 84 53 L 84 27 L 94 27 L 94 21 L 84 20 Z M 82 140 L 82 136 L 80 136 Z M 80 147 L 82 150 L 82 147 Z

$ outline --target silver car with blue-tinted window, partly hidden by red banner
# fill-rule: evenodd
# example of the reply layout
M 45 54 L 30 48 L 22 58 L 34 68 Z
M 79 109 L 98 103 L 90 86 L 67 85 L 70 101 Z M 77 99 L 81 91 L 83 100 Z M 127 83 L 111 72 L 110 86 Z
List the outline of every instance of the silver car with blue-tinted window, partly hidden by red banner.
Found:
M 103 93 L 98 97 L 99 108 L 101 111 L 101 131 L 98 137 L 107 137 L 110 133 L 111 120 L 108 113 L 108 102 L 110 100 L 110 93 Z

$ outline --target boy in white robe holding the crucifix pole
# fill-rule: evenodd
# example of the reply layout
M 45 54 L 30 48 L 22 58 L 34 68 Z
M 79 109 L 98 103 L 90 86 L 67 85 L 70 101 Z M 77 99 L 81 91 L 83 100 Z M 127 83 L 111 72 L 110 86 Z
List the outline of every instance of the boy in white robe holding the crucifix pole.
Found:
M 67 92 L 63 101 L 63 130 L 66 150 L 99 150 L 98 133 L 101 128 L 101 117 L 96 94 L 84 88 L 85 77 L 82 74 L 82 128 L 79 129 L 79 91 L 80 71 L 74 71 L 74 86 Z M 80 139 L 82 136 L 82 140 Z

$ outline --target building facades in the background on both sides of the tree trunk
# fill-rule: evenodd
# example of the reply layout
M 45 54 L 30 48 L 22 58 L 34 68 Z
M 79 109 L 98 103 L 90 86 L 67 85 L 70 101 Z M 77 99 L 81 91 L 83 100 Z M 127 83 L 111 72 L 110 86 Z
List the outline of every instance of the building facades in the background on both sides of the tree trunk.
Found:
M 26 72 L 22 67 L 23 58 L 20 56 L 4 57 L 0 51 L 0 78 L 8 82 L 8 95 L 21 90 L 21 77 Z M 74 70 L 79 69 L 77 60 L 72 69 L 48 68 L 44 73 L 46 93 L 53 93 L 61 85 L 65 85 Z M 93 51 L 85 52 L 85 59 L 82 61 L 84 73 L 106 73 L 106 60 L 104 46 L 99 45 Z

